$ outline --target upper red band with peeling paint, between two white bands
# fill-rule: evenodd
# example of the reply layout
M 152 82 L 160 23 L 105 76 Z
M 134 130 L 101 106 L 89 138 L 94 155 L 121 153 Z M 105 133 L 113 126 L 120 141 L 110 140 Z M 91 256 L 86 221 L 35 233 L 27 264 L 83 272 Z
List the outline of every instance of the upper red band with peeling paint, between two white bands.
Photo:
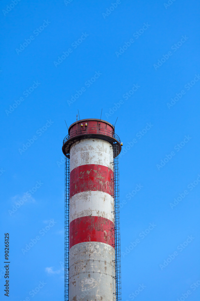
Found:
M 114 194 L 113 171 L 103 165 L 86 164 L 70 172 L 70 197 L 83 191 L 103 191 Z

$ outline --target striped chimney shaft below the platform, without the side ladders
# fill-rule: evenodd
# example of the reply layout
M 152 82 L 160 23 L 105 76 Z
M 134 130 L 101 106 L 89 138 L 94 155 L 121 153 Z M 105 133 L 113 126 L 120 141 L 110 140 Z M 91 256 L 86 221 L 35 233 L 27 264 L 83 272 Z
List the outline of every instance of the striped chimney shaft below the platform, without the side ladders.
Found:
M 87 138 L 71 146 L 70 301 L 116 301 L 114 233 L 109 244 L 114 231 L 112 162 L 108 141 Z M 84 238 L 81 243 L 79 238 Z

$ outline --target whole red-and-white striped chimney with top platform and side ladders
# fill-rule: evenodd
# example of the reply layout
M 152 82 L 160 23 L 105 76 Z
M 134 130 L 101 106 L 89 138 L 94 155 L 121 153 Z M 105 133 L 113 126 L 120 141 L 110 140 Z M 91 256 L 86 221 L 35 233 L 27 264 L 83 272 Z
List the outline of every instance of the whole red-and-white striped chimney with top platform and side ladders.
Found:
M 114 126 L 71 124 L 65 154 L 65 301 L 120 301 L 119 166 Z

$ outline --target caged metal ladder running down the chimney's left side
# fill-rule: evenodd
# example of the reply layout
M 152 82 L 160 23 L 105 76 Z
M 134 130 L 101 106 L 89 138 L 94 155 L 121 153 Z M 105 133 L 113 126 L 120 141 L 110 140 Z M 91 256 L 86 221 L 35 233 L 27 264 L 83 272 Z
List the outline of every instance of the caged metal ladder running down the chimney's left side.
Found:
M 65 157 L 65 301 L 69 300 L 69 172 L 70 159 Z

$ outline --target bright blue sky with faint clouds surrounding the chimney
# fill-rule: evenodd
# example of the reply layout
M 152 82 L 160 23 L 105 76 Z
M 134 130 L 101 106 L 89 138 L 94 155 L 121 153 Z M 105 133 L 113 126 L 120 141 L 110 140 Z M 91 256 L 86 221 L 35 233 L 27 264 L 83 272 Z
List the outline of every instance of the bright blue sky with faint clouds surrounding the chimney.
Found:
M 16 1 L 0 2 L 9 300 L 64 299 L 64 120 L 102 108 L 124 144 L 122 301 L 199 300 L 199 2 Z

